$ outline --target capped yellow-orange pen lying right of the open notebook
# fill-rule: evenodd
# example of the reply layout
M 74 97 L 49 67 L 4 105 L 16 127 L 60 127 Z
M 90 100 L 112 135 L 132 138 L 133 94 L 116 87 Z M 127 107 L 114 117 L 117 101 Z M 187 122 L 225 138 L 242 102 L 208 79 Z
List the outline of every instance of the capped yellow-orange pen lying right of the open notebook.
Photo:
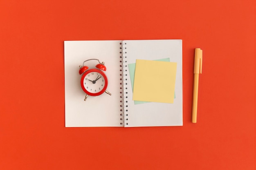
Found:
M 192 123 L 196 123 L 197 112 L 198 112 L 198 82 L 199 82 L 199 73 L 202 74 L 202 60 L 203 60 L 202 53 L 203 51 L 200 48 L 195 49 Z

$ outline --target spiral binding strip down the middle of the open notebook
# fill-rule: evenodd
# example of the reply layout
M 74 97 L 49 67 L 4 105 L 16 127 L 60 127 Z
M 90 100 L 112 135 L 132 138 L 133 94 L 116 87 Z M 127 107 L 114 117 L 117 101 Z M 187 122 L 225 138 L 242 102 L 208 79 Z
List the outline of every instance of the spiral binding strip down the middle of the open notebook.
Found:
M 120 124 L 128 125 L 126 42 L 120 43 L 120 54 Z

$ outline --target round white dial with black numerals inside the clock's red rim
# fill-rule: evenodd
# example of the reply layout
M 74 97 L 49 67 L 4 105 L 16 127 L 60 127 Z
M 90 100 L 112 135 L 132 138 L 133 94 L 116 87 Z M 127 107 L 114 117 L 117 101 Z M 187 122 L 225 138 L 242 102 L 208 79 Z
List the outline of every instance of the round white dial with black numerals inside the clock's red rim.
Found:
M 105 86 L 105 79 L 101 73 L 93 71 L 85 75 L 83 86 L 90 93 L 99 93 Z

